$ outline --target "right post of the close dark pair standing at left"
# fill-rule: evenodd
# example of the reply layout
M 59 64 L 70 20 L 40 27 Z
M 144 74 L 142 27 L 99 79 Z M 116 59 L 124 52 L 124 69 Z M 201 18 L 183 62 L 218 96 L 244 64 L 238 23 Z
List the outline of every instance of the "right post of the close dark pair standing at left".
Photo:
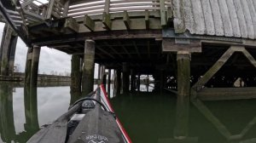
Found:
M 34 45 L 32 49 L 32 64 L 31 64 L 31 77 L 30 87 L 37 87 L 38 85 L 38 65 L 41 47 Z

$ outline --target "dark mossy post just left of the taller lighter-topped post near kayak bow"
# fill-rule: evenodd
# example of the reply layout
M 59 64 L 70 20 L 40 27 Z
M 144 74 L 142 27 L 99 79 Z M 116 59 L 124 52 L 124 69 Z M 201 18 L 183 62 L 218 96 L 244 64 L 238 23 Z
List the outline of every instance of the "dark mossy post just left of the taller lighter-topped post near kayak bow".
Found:
M 71 85 L 70 91 L 81 92 L 80 57 L 73 54 L 71 59 Z

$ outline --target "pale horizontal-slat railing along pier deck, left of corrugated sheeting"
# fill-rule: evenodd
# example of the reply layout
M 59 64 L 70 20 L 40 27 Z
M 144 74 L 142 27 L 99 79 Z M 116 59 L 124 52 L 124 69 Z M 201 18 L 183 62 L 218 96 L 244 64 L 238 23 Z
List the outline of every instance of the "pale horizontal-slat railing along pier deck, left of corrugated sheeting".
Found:
M 117 13 L 123 11 L 154 11 L 171 7 L 172 0 L 95 0 L 74 1 L 69 4 L 68 16 Z

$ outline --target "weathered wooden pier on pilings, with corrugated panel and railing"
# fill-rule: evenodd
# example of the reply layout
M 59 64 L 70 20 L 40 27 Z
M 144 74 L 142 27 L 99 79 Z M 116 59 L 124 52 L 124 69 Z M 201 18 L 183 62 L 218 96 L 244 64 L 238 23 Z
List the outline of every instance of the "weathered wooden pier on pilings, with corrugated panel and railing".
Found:
M 97 63 L 103 83 L 111 77 L 105 69 L 114 70 L 117 93 L 137 89 L 141 75 L 152 75 L 160 81 L 155 90 L 170 85 L 191 100 L 256 97 L 252 0 L 1 0 L 0 7 L 7 23 L 1 73 L 12 68 L 13 53 L 6 51 L 14 51 L 19 36 L 28 47 L 31 86 L 40 48 L 47 46 L 73 55 L 71 89 L 84 94 L 92 90 Z M 234 89 L 238 78 L 247 88 Z

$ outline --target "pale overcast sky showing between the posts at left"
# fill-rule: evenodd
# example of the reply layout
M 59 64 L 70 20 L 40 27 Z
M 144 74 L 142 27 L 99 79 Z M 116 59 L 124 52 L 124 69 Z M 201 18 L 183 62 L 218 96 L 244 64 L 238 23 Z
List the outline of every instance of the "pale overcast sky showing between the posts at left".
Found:
M 4 23 L 0 23 L 0 40 L 3 36 Z M 21 72 L 25 71 L 26 65 L 26 44 L 19 38 L 16 53 L 15 53 L 15 65 L 20 65 Z M 39 60 L 39 72 L 50 73 L 55 72 L 70 72 L 71 68 L 71 55 L 63 53 L 55 49 L 49 49 L 47 47 L 41 48 L 40 60 Z

